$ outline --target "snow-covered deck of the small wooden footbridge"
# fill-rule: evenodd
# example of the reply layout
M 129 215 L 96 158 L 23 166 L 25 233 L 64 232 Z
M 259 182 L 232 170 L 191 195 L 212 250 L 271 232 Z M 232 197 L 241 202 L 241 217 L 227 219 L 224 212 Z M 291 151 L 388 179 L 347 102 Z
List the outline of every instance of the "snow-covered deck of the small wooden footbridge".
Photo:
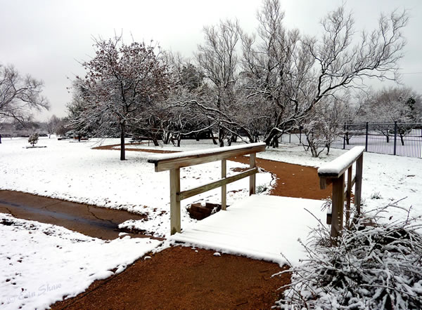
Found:
M 252 195 L 237 201 L 226 211 L 192 224 L 170 239 L 279 264 L 297 264 L 305 258 L 298 238 L 306 242 L 309 227 L 318 224 L 316 218 L 325 222 L 326 212 L 321 210 L 323 203 L 312 199 Z M 283 257 L 283 251 L 288 253 L 286 257 Z

